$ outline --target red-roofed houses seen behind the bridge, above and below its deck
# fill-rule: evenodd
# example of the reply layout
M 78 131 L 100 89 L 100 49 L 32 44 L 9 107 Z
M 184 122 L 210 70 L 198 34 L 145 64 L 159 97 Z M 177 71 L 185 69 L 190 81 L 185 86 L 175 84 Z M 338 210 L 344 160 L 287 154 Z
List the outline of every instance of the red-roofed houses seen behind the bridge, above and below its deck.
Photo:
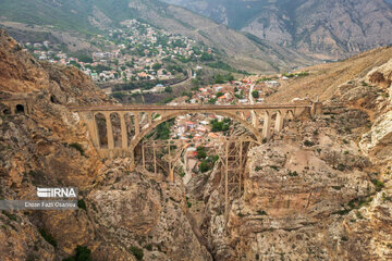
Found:
M 277 91 L 280 80 L 285 80 L 283 75 L 271 78 L 246 78 L 242 80 L 233 80 L 226 84 L 216 84 L 200 87 L 192 91 L 192 96 L 182 97 L 173 100 L 170 104 L 193 103 L 193 104 L 250 104 L 265 102 L 266 97 Z M 249 115 L 248 115 L 249 116 Z M 217 139 L 230 135 L 232 129 L 225 132 L 217 132 L 212 128 L 213 122 L 224 121 L 223 116 L 200 113 L 187 114 L 179 116 L 171 129 L 172 139 L 189 140 L 186 148 L 186 159 L 199 164 L 197 159 L 197 148 L 203 146 L 209 151 L 213 147 Z M 193 160 L 193 161 L 192 161 Z M 192 169 L 192 167 L 191 167 Z

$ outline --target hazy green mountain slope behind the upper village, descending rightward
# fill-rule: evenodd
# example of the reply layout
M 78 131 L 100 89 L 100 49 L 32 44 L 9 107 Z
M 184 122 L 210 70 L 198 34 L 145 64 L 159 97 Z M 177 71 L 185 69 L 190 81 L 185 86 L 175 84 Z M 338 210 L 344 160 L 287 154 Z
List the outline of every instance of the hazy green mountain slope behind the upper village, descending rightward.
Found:
M 282 46 L 245 35 L 209 18 L 158 0 L 29 0 L 0 2 L 1 21 L 44 25 L 85 35 L 138 18 L 218 49 L 235 67 L 277 72 L 314 63 Z

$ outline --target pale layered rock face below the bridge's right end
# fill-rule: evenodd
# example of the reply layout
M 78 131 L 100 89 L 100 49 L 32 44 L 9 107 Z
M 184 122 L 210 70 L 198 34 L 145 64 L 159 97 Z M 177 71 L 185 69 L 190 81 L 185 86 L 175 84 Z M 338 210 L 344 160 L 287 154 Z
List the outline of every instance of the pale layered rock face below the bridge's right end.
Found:
M 389 191 L 378 191 L 371 162 L 348 141 L 366 117 L 336 108 L 313 122 L 290 123 L 286 134 L 296 140 L 253 148 L 244 195 L 231 198 L 225 232 L 222 197 L 207 185 L 203 223 L 216 259 L 387 260 L 391 235 L 363 225 L 392 228 Z M 377 244 L 368 247 L 370 241 Z

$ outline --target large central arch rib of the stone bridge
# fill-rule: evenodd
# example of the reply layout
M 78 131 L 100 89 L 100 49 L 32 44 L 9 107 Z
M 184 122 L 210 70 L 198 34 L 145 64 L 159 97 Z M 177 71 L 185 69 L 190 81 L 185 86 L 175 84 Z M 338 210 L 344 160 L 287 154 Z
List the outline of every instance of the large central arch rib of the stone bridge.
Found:
M 130 144 L 130 149 L 134 150 L 136 148 L 136 146 L 140 142 L 140 140 L 146 135 L 148 135 L 150 132 L 152 132 L 156 127 L 158 127 L 158 125 L 160 125 L 164 122 L 168 122 L 169 120 L 174 119 L 176 116 L 193 114 L 193 113 L 201 113 L 201 114 L 208 113 L 208 114 L 216 114 L 216 115 L 230 117 L 230 119 L 241 123 L 250 133 L 253 133 L 259 142 L 262 141 L 261 133 L 256 127 L 254 127 L 250 123 L 248 123 L 246 120 L 242 119 L 241 116 L 236 115 L 235 113 L 228 113 L 228 112 L 222 112 L 222 111 L 197 111 L 197 112 L 186 113 L 186 112 L 180 111 L 180 112 L 173 112 L 173 113 L 170 113 L 170 114 L 163 115 L 163 116 L 161 115 L 160 117 L 156 119 L 155 121 L 152 120 L 151 123 L 148 124 L 146 128 L 142 128 L 140 133 L 134 136 L 134 138 L 132 139 L 132 141 Z

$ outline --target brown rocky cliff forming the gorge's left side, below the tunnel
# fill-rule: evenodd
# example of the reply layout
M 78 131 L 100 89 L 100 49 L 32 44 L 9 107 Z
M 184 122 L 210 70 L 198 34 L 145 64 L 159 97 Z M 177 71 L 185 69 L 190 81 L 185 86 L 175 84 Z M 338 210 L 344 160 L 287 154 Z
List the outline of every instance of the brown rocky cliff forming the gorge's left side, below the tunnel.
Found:
M 39 63 L 0 32 L 1 98 L 35 92 L 33 112 L 0 103 L 0 197 L 37 199 L 36 187 L 79 189 L 75 211 L 2 211 L 1 260 L 62 260 L 77 246 L 94 260 L 211 260 L 187 221 L 181 184 L 102 162 L 69 105 L 113 103 L 73 67 Z M 139 257 L 139 256 L 138 256 Z

